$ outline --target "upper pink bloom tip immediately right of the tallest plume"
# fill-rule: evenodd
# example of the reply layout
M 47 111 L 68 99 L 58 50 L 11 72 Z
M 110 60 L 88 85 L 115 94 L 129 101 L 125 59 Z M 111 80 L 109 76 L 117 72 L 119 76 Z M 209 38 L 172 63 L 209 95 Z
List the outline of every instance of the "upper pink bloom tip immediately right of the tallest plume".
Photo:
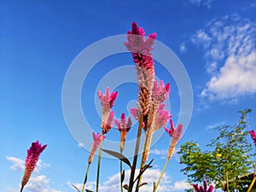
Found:
M 170 84 L 164 84 L 162 80 L 160 80 L 160 84 L 157 84 L 157 81 L 154 81 L 154 86 L 152 90 L 152 100 L 154 102 L 165 102 L 167 97 L 170 94 Z

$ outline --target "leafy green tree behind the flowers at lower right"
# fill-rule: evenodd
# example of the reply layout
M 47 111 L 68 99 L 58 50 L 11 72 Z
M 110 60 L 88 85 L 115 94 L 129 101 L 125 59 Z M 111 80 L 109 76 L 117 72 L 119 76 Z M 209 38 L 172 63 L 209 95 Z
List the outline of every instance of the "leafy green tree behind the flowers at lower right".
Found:
M 212 150 L 201 152 L 198 143 L 188 142 L 180 147 L 178 154 L 181 170 L 187 175 L 189 183 L 201 182 L 203 178 L 215 184 L 216 189 L 234 191 L 242 189 L 241 176 L 246 175 L 253 167 L 251 160 L 252 145 L 247 141 L 248 132 L 246 115 L 252 110 L 240 111 L 238 125 L 220 125 L 215 129 L 219 132 L 207 146 Z

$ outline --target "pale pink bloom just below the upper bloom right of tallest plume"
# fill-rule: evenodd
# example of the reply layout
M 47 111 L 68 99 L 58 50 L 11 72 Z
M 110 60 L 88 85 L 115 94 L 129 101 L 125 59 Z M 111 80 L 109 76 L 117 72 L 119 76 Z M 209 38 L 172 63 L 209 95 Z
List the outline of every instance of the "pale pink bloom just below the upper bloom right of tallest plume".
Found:
M 154 120 L 154 130 L 157 131 L 160 127 L 166 125 L 168 120 L 171 119 L 171 114 L 165 108 L 165 104 L 160 104 L 159 108 L 157 109 L 156 117 Z

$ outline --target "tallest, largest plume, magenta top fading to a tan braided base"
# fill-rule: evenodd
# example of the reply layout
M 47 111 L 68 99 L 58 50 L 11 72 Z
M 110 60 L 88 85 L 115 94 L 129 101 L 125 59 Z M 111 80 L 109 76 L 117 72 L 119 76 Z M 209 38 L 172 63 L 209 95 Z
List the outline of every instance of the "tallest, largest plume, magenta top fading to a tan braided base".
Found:
M 152 88 L 154 85 L 154 60 L 151 54 L 153 50 L 156 33 L 145 38 L 142 27 L 138 27 L 136 22 L 131 24 L 131 31 L 127 32 L 125 46 L 131 51 L 133 61 L 136 63 L 137 79 L 139 84 L 138 111 L 140 115 L 148 113 L 151 102 Z

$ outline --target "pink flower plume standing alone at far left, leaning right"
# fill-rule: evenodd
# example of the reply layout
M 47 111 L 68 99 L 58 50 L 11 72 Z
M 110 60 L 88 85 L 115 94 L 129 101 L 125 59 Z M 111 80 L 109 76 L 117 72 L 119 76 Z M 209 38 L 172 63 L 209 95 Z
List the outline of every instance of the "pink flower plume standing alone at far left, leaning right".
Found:
M 28 182 L 34 168 L 37 165 L 37 162 L 39 160 L 39 155 L 44 151 L 44 148 L 46 148 L 46 146 L 47 145 L 41 146 L 41 143 L 37 141 L 32 143 L 32 146 L 27 150 L 26 168 L 25 168 L 25 172 L 21 182 L 22 188 Z

